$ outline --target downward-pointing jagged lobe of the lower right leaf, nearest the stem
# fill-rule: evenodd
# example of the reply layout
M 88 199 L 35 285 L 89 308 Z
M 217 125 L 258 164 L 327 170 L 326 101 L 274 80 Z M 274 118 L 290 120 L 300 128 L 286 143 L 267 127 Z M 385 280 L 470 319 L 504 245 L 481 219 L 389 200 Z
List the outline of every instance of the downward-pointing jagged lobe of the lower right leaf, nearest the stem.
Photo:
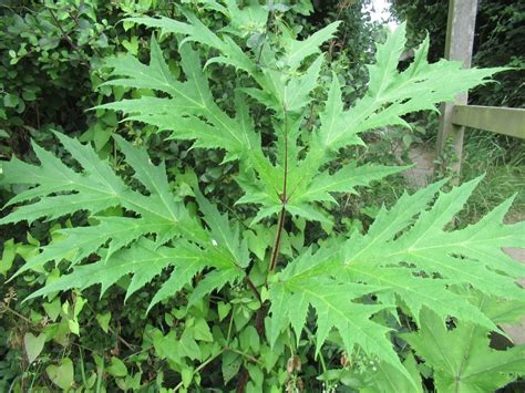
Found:
M 390 329 L 371 320 L 373 314 L 392 304 L 363 304 L 356 301 L 382 288 L 334 279 L 332 272 L 339 269 L 337 257 L 338 252 L 332 251 L 307 252 L 275 277 L 269 291 L 271 319 L 267 329 L 270 344 L 289 324 L 296 330 L 299 340 L 311 306 L 317 314 L 317 351 L 330 330 L 336 329 L 349 353 L 354 345 L 359 345 L 366 353 L 391 364 L 411 381 L 390 343 Z

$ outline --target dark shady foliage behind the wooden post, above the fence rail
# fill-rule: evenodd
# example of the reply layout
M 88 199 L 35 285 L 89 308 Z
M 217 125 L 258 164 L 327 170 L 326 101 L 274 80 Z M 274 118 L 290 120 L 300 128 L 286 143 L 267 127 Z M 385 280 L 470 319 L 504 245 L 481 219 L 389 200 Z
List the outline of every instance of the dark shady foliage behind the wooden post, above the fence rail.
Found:
M 430 59 L 444 55 L 446 0 L 394 0 L 392 10 L 400 20 L 406 20 L 412 42 L 428 32 L 433 42 Z M 476 66 L 505 65 L 513 72 L 497 75 L 498 83 L 478 86 L 470 93 L 478 105 L 523 107 L 524 27 L 525 4 L 516 1 L 481 1 L 476 14 L 476 31 L 472 62 Z

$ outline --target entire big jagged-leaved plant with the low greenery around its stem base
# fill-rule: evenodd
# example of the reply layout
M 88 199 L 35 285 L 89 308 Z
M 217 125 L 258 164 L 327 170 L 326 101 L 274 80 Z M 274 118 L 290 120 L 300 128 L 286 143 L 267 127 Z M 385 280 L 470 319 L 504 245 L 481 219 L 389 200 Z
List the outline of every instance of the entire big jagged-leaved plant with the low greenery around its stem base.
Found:
M 525 268 L 502 247 L 523 247 L 525 224 L 503 224 L 511 198 L 478 223 L 455 229 L 454 216 L 480 179 L 446 193 L 441 190 L 443 180 L 403 194 L 392 207 L 380 209 L 366 232 L 332 230 L 309 244 L 303 236 L 290 240 L 303 234 L 306 224 L 328 228 L 329 208 L 338 194 L 356 193 L 358 186 L 404 169 L 353 161 L 330 165 L 340 159 L 342 148 L 363 145 L 360 135 L 368 131 L 409 126 L 403 115 L 434 110 L 498 70 L 464 70 L 445 60 L 429 64 L 425 40 L 410 66 L 399 72 L 405 46 L 402 24 L 377 46 L 375 62 L 368 68 L 368 92 L 348 106 L 338 75 L 331 75 L 326 94 L 320 83 L 320 46 L 333 38 L 339 23 L 297 40 L 274 18 L 276 10 L 226 4 L 204 6 L 230 21 L 219 32 L 189 12 L 186 22 L 128 19 L 158 28 L 164 35 L 175 34 L 184 79 L 172 74 L 152 37 L 150 64 L 131 54 L 111 60 L 115 79 L 106 84 L 158 94 L 102 107 L 168 131 L 171 138 L 193 141 L 193 148 L 224 151 L 224 162 L 238 167 L 235 180 L 244 193 L 228 208 L 235 211 L 245 205 L 251 208 L 243 214 L 253 215 L 233 219 L 219 213 L 189 168 L 171 179 L 163 163 L 154 165 L 146 152 L 120 136 L 114 139 L 133 178 L 112 169 L 91 146 L 56 134 L 76 166 L 66 166 L 38 145 L 33 147 L 40 165 L 13 158 L 3 166 L 4 185 L 34 187 L 9 201 L 18 207 L 1 224 L 54 220 L 81 210 L 90 217 L 85 226 L 61 229 L 60 237 L 14 275 L 49 271 L 51 261 L 69 263 L 69 272 L 48 280 L 29 299 L 94 285 L 101 286 L 102 296 L 124 282 L 123 307 L 133 307 L 134 293 L 152 288 L 154 278 L 167 277 L 152 294 L 148 310 L 184 294 L 189 311 L 181 314 L 179 327 L 186 328 L 164 337 L 176 339 L 165 341 L 164 349 L 162 341 L 155 348 L 181 373 L 178 386 L 186 389 L 206 381 L 200 372 L 215 360 L 222 361 L 225 385 L 243 368 L 235 382 L 240 391 L 279 391 L 282 385 L 300 391 L 301 363 L 305 370 L 317 361 L 326 389 L 333 380 L 363 391 L 422 391 L 424 371 L 443 392 L 486 391 L 523 373 L 524 350 L 492 350 L 487 334 L 502 333 L 497 323 L 515 316 L 515 304 L 524 299 L 515 280 L 525 276 Z M 247 41 L 250 50 L 244 50 Z M 204 65 L 197 45 L 210 53 Z M 236 69 L 235 111 L 220 107 L 212 94 L 206 70 L 214 63 Z M 315 91 L 326 99 L 313 100 Z M 321 110 L 309 131 L 312 105 Z M 270 141 L 265 144 L 253 117 L 255 108 L 271 114 Z M 192 196 L 178 193 L 187 185 Z M 105 214 L 115 207 L 124 214 Z M 255 229 L 241 230 L 246 223 L 271 228 L 272 239 Z M 239 291 L 243 296 L 234 299 L 231 293 Z M 506 313 L 496 312 L 497 304 Z M 200 311 L 192 314 L 197 308 Z M 413 332 L 406 333 L 406 328 Z M 464 340 L 470 344 L 455 347 Z M 437 351 L 443 349 L 449 354 Z M 326 364 L 325 356 L 333 354 L 341 363 Z M 374 364 L 366 376 L 358 370 L 363 359 Z

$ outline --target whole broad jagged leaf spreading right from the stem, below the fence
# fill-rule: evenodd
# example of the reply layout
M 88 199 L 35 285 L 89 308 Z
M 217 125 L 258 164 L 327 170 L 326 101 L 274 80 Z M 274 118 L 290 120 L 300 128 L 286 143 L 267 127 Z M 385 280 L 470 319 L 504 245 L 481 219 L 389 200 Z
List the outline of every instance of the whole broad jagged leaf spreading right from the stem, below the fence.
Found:
M 508 200 L 477 224 L 444 230 L 478 182 L 440 193 L 437 198 L 444 182 L 405 194 L 390 210 L 380 210 L 367 234 L 354 232 L 342 246 L 321 247 L 288 263 L 270 280 L 270 341 L 288 324 L 300 337 L 310 304 L 318 316 L 318 345 L 333 328 L 349 353 L 358 344 L 412 381 L 392 350 L 388 329 L 371 320 L 378 311 L 393 312 L 398 306 L 421 325 L 428 307 L 442 324 L 452 316 L 460 323 L 498 330 L 492 316 L 457 289 L 523 299 L 525 290 L 515 279 L 525 276 L 525 268 L 509 260 L 502 248 L 524 246 L 525 223 L 502 223 Z M 363 301 L 372 292 L 378 301 Z M 357 320 L 358 327 L 353 325 Z

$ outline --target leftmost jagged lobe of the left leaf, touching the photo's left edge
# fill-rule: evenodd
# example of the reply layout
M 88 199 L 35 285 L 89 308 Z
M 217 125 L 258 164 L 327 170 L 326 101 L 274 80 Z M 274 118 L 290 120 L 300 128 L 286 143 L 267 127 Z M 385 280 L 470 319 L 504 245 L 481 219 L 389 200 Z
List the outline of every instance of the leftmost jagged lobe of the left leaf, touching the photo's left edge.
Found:
M 74 172 L 51 153 L 34 144 L 33 148 L 40 165 L 30 165 L 13 157 L 3 165 L 2 179 L 3 184 L 37 185 L 9 201 L 10 205 L 27 200 L 32 203 L 19 207 L 2 218 L 0 224 L 20 220 L 31 223 L 42 217 L 54 219 L 78 210 L 96 214 L 115 206 L 122 206 L 158 223 L 169 223 L 172 226 L 177 226 L 185 216 L 181 203 L 166 199 L 165 196 L 154 192 L 145 196 L 133 190 L 115 175 L 106 162 L 96 156 L 91 147 L 62 134 L 56 136 L 84 172 Z M 151 166 L 150 170 L 164 169 Z

